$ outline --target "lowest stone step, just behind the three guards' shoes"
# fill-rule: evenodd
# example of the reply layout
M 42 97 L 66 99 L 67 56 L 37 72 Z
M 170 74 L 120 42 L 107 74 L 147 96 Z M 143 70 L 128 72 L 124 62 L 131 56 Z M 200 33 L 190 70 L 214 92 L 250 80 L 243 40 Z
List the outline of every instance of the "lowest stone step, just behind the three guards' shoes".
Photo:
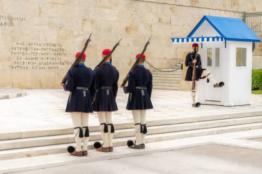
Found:
M 215 127 L 210 129 L 198 129 L 191 131 L 178 131 L 171 133 L 159 133 L 153 135 L 146 135 L 146 142 L 157 142 L 157 141 L 165 141 L 165 140 L 174 140 L 179 138 L 190 138 L 201 135 L 213 135 L 219 133 L 229 133 L 234 131 L 247 131 L 252 129 L 261 129 L 262 123 L 252 123 L 252 124 L 240 124 L 234 126 L 227 127 Z M 134 136 L 125 137 L 125 138 L 115 138 L 114 146 L 126 146 L 126 142 L 128 140 L 134 140 Z M 94 149 L 93 147 L 94 141 L 90 141 L 88 144 L 88 149 Z M 9 160 L 14 158 L 21 157 L 31 157 L 37 155 L 49 155 L 55 153 L 66 153 L 68 146 L 74 146 L 74 143 L 70 144 L 58 144 L 58 145 L 50 145 L 50 146 L 38 146 L 31 148 L 23 148 L 23 149 L 12 149 L 0 151 L 0 159 L 1 160 Z

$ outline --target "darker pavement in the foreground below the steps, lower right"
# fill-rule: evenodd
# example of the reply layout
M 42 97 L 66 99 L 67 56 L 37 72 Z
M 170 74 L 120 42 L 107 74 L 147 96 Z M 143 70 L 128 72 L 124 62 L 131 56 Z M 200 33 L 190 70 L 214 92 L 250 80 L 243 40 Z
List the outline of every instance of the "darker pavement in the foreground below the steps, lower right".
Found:
M 210 144 L 143 156 L 121 157 L 114 160 L 100 160 L 18 173 L 259 174 L 262 173 L 262 151 Z

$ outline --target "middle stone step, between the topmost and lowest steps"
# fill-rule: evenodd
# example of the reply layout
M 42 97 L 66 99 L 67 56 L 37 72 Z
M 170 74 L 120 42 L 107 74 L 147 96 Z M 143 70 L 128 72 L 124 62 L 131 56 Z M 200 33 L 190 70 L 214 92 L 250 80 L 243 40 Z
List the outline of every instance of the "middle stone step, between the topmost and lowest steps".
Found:
M 203 122 L 190 122 L 181 124 L 167 124 L 159 126 L 148 126 L 148 135 L 158 133 L 168 133 L 174 131 L 189 131 L 196 129 L 208 129 L 213 127 L 225 127 L 238 124 L 250 124 L 262 122 L 262 116 L 253 116 L 248 118 L 230 118 L 224 120 L 210 120 Z M 129 137 L 134 134 L 134 129 L 119 129 L 114 133 L 114 138 Z M 100 131 L 90 133 L 90 140 L 101 140 Z M 23 138 L 17 140 L 2 140 L 0 150 L 21 149 L 34 146 L 46 146 L 52 144 L 65 144 L 74 142 L 72 134 L 51 135 L 38 138 Z

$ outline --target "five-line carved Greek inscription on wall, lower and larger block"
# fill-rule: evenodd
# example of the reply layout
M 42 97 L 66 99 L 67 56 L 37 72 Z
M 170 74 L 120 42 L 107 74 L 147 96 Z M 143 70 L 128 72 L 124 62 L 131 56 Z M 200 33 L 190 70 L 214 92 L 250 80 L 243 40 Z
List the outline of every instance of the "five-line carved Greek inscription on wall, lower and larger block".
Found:
M 14 56 L 13 70 L 57 70 L 72 65 L 64 60 L 66 49 L 59 43 L 17 42 L 10 48 L 10 54 Z

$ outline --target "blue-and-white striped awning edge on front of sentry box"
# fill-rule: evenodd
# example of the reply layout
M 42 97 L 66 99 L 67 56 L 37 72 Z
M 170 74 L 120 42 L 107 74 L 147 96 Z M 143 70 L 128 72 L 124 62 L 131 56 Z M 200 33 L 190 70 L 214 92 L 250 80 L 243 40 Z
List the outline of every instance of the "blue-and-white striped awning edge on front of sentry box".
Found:
M 201 37 L 174 37 L 171 38 L 172 43 L 207 43 L 207 42 L 223 42 L 223 36 L 201 36 Z

